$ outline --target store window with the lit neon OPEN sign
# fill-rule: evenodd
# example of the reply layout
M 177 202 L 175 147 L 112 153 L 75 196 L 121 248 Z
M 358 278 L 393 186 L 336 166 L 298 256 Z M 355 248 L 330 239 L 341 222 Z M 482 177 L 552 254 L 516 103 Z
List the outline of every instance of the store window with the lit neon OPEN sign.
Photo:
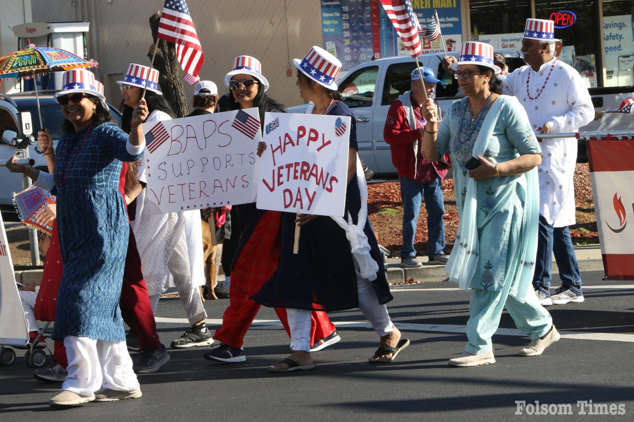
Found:
M 573 66 L 588 88 L 598 87 L 597 0 L 535 0 L 535 13 L 538 19 L 555 21 L 555 38 L 561 40 L 557 58 Z

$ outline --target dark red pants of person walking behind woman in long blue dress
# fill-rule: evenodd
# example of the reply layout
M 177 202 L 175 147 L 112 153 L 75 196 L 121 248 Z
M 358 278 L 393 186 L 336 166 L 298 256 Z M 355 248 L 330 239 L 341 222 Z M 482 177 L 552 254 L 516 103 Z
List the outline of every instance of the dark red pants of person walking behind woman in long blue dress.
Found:
M 127 242 L 126 268 L 123 273 L 119 306 L 123 320 L 134 330 L 139 339 L 141 351 L 146 348 L 160 349 L 161 343 L 157 334 L 157 324 L 152 313 L 152 306 L 150 306 L 148 288 L 145 285 L 143 273 L 141 273 L 141 257 L 136 249 L 136 239 L 132 229 L 130 229 L 130 238 Z M 61 356 L 63 356 L 63 361 L 60 361 Z M 61 366 L 66 368 L 66 349 L 62 342 L 55 342 L 53 357 Z

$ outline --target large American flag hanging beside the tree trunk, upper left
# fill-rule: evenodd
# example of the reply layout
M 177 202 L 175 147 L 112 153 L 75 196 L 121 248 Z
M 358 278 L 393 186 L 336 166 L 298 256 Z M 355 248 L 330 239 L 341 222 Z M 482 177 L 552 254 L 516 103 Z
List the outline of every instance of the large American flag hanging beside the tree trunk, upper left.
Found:
M 205 61 L 190 11 L 184 0 L 165 0 L 159 21 L 159 38 L 176 44 L 178 62 L 186 73 L 198 76 Z

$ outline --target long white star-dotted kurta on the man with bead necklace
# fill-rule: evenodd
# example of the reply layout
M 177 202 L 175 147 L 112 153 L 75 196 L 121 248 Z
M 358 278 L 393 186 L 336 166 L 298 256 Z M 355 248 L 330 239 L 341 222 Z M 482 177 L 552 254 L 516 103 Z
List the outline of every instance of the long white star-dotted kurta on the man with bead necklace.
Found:
M 500 79 L 504 84 L 503 94 L 519 99 L 535 133 L 540 133 L 537 128 L 547 122 L 551 133 L 577 132 L 594 118 L 588 88 L 579 72 L 562 61 L 553 59 L 538 71 L 522 66 Z M 540 214 L 555 227 L 573 225 L 577 139 L 544 139 L 540 146 L 544 154 L 538 167 Z

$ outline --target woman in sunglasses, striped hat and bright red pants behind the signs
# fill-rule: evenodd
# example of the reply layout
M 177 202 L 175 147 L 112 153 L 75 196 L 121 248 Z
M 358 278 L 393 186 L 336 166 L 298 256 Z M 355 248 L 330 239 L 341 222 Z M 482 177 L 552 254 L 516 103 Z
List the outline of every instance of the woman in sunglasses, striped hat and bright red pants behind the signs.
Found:
M 286 108 L 265 94 L 269 83 L 262 75 L 262 66 L 256 58 L 238 56 L 233 61 L 233 70 L 224 77 L 224 84 L 231 90 L 230 109 L 257 107 L 260 121 L 264 113 L 285 113 Z M 260 143 L 258 155 L 263 151 Z M 221 345 L 205 354 L 205 359 L 221 362 L 243 362 L 243 340 L 260 305 L 250 299 L 273 274 L 280 261 L 280 223 L 282 213 L 256 209 L 255 204 L 243 204 L 233 207 L 234 214 L 242 226 L 243 232 L 236 245 L 235 258 L 231 266 L 224 266 L 225 274 L 230 271 L 230 305 L 223 314 L 223 326 L 214 334 Z M 209 215 L 211 209 L 204 210 Z M 233 216 L 232 216 L 233 218 Z M 228 251 L 227 240 L 235 241 L 237 230 L 232 220 L 231 239 L 224 240 L 224 252 Z M 231 245 L 231 244 L 230 244 Z M 223 259 L 224 261 L 224 259 Z M 276 313 L 284 328 L 290 333 L 286 309 L 276 307 Z M 340 340 L 335 326 L 323 312 L 308 313 L 309 347 L 318 351 Z

